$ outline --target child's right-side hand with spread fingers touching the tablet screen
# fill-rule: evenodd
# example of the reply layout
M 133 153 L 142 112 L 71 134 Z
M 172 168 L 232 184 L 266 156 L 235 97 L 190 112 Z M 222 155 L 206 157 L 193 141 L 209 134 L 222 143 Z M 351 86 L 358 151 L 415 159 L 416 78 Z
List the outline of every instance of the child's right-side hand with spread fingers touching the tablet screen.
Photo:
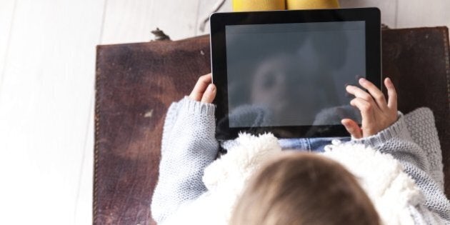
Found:
M 391 79 L 384 79 L 389 99 L 386 102 L 383 92 L 381 92 L 370 81 L 361 78 L 359 84 L 369 93 L 357 86 L 346 86 L 346 91 L 353 94 L 355 98 L 350 101 L 352 106 L 361 111 L 361 127 L 351 119 L 343 119 L 341 123 L 356 139 L 371 136 L 386 129 L 397 121 L 397 94 Z

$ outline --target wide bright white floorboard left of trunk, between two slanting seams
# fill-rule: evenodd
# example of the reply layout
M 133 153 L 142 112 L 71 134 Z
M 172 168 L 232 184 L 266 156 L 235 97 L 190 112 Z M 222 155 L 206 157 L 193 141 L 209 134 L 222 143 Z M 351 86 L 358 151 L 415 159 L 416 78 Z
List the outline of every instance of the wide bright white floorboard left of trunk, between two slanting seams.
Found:
M 103 11 L 104 1 L 16 2 L 0 87 L 0 224 L 74 224 Z

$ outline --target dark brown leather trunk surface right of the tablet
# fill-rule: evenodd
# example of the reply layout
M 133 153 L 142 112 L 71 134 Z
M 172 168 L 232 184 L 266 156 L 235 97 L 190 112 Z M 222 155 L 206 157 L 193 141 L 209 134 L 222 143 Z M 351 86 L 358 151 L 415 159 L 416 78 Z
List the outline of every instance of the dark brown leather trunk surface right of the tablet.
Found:
M 382 33 L 383 76 L 396 86 L 399 110 L 426 106 L 434 113 L 450 196 L 450 59 L 446 27 L 387 29 Z M 386 94 L 386 92 L 385 92 Z

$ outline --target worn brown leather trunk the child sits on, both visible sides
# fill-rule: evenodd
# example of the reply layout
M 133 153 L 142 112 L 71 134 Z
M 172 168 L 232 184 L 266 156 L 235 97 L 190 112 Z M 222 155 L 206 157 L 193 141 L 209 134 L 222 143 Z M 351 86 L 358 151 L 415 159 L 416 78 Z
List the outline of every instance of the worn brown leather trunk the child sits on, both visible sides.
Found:
M 450 196 L 450 59 L 446 27 L 383 31 L 383 74 L 399 110 L 434 111 Z M 155 224 L 161 131 L 172 101 L 211 71 L 209 36 L 97 47 L 94 224 Z

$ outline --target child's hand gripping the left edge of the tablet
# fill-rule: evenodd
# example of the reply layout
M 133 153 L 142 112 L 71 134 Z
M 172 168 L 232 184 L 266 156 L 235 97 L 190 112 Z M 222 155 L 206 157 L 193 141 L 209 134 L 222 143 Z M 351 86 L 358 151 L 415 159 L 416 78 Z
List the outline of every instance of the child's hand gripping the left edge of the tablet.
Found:
M 191 94 L 189 94 L 189 99 L 203 103 L 212 103 L 216 97 L 216 86 L 211 81 L 211 74 L 200 76 Z

